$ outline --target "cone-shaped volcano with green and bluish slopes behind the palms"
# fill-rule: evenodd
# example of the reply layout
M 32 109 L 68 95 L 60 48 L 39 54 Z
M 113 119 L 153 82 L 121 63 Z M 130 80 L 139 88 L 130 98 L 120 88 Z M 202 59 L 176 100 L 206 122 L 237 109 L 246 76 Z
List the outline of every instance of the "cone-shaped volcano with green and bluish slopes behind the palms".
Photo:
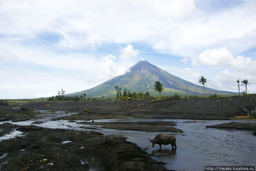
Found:
M 203 86 L 183 80 L 150 64 L 145 59 L 141 59 L 135 65 L 131 66 L 125 74 L 112 78 L 91 89 L 67 94 L 67 96 L 80 96 L 86 93 L 87 97 L 114 97 L 116 94 L 115 85 L 122 87 L 122 91 L 125 89 L 131 93 L 144 93 L 148 91 L 150 95 L 157 96 L 158 92 L 153 90 L 153 85 L 156 81 L 164 84 L 163 87 L 165 87 L 165 90 L 161 93 L 162 95 L 173 95 L 174 93 L 187 95 L 187 87 L 189 95 L 204 93 Z M 207 94 L 234 94 L 234 92 L 220 91 L 208 87 L 205 87 L 205 92 Z

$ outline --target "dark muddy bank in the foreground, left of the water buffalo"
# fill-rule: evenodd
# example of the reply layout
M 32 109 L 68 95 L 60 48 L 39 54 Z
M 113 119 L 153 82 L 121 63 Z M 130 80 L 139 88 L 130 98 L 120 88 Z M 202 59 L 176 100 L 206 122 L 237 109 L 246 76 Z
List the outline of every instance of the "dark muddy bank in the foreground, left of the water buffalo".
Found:
M 0 170 L 166 170 L 121 135 L 9 123 L 0 129 L 23 133 L 0 141 Z

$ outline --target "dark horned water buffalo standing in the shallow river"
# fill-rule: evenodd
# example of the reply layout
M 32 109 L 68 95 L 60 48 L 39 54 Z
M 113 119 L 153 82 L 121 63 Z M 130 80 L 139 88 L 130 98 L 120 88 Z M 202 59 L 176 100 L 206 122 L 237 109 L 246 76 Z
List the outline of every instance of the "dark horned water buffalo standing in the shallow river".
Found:
M 171 144 L 172 148 L 173 148 L 173 146 L 175 148 L 177 148 L 177 146 L 176 146 L 176 138 L 173 135 L 158 134 L 152 140 L 149 139 L 149 137 L 148 137 L 148 140 L 150 142 L 152 142 L 152 147 L 154 147 L 155 144 L 159 144 L 160 148 L 162 148 L 162 146 L 161 146 L 162 144 L 163 145 Z

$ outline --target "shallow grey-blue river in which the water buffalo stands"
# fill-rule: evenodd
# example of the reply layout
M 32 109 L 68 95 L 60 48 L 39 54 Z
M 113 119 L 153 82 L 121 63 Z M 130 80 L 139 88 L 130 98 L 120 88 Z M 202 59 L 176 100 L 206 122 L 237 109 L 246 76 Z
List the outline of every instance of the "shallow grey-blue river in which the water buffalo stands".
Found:
M 71 113 L 69 113 L 71 114 Z M 38 121 L 47 121 L 43 124 L 35 124 L 48 128 L 63 128 L 86 130 L 79 128 L 75 122 L 67 122 L 67 120 L 50 121 L 50 118 L 69 115 L 66 113 L 48 114 Z M 78 122 L 82 122 L 77 120 Z M 182 134 L 174 134 L 176 137 L 177 150 L 172 149 L 171 145 L 159 145 L 151 147 L 148 137 L 153 139 L 157 134 L 170 134 L 168 132 L 138 132 L 138 131 L 119 131 L 101 129 L 96 130 L 103 134 L 121 134 L 128 137 L 127 141 L 136 143 L 139 147 L 149 147 L 148 153 L 153 154 L 153 158 L 157 161 L 166 163 L 166 168 L 172 170 L 204 170 L 204 166 L 255 166 L 256 161 L 256 136 L 249 131 L 219 130 L 206 128 L 208 125 L 228 123 L 231 120 L 197 120 L 197 122 L 182 123 L 191 120 L 180 119 L 108 119 L 94 120 L 94 122 L 115 122 L 115 121 L 170 121 L 177 122 L 175 128 L 184 131 Z M 10 122 L 10 121 L 5 121 Z M 30 125 L 31 120 L 15 122 L 18 125 Z M 89 121 L 91 122 L 91 121 Z M 236 121 L 243 122 L 243 121 Z M 248 122 L 248 121 L 247 121 Z M 255 122 L 255 121 L 251 121 Z M 2 124 L 4 122 L 0 122 Z M 0 130 L 1 131 L 1 130 Z M 7 135 L 8 136 L 8 135 Z M 19 135 L 18 135 L 19 136 Z M 6 137 L 0 137 L 6 139 Z M 67 139 L 67 141 L 72 141 Z

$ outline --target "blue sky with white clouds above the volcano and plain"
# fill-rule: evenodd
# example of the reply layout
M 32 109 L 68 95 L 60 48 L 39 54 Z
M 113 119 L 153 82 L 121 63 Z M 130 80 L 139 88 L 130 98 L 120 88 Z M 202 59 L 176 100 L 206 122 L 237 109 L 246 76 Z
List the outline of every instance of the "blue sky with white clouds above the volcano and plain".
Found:
M 184 80 L 256 92 L 255 0 L 0 0 L 0 99 L 75 93 L 140 59 Z M 240 92 L 245 86 L 240 86 Z

